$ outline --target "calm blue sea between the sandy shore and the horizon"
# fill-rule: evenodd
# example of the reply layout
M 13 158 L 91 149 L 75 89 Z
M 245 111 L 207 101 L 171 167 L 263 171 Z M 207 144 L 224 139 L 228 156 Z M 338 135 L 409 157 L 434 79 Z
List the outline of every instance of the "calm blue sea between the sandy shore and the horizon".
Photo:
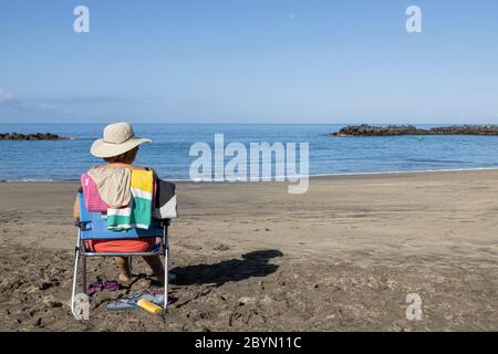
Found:
M 135 164 L 153 167 L 165 179 L 189 180 L 190 165 L 197 158 L 189 155 L 193 144 L 207 143 L 214 147 L 215 134 L 224 134 L 225 144 L 242 143 L 248 150 L 250 143 L 309 143 L 310 176 L 498 168 L 498 136 L 449 135 L 422 139 L 418 136 L 328 136 L 344 125 L 134 124 L 137 136 L 154 140 L 141 147 Z M 71 137 L 69 140 L 0 140 L 0 180 L 79 179 L 89 167 L 102 164 L 90 155 L 90 147 L 102 136 L 103 127 L 104 124 L 0 124 L 0 133 L 54 133 Z

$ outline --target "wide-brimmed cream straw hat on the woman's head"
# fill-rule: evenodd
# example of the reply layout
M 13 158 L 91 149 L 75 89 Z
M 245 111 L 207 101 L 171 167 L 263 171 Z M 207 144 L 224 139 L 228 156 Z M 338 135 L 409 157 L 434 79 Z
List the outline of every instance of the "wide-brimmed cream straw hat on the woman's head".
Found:
M 129 123 L 114 123 L 104 128 L 103 138 L 93 143 L 90 153 L 96 157 L 113 157 L 124 154 L 143 143 L 152 143 L 152 140 L 135 137 Z

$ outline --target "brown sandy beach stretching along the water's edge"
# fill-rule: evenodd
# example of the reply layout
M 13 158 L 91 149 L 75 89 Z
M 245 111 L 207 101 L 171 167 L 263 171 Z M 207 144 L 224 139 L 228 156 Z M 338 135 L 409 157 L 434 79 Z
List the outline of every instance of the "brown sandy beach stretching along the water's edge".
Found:
M 312 178 L 286 184 L 177 185 L 165 319 L 70 313 L 75 183 L 0 184 L 2 331 L 497 331 L 498 170 Z M 90 281 L 116 279 L 90 261 Z M 422 319 L 406 319 L 417 293 Z

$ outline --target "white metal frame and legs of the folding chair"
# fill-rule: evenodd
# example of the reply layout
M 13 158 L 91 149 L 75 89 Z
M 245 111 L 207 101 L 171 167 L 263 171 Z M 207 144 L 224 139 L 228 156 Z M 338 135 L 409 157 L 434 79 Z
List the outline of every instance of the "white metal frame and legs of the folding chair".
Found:
M 83 202 L 83 196 L 80 194 L 80 215 L 86 214 L 91 215 L 93 212 L 89 212 L 84 208 Z M 81 219 L 81 217 L 80 217 Z M 163 256 L 164 260 L 164 305 L 163 305 L 163 314 L 167 313 L 167 306 L 168 306 L 168 261 L 169 261 L 169 238 L 168 238 L 168 227 L 170 223 L 170 219 L 164 219 L 164 220 L 154 220 L 156 225 L 162 228 L 162 236 L 146 236 L 148 238 L 154 237 L 159 239 L 159 243 L 154 247 L 154 249 L 149 252 L 94 252 L 89 251 L 85 248 L 84 241 L 92 240 L 92 239 L 101 239 L 101 238 L 87 238 L 83 237 L 82 233 L 84 231 L 89 230 L 89 226 L 91 227 L 92 221 L 87 220 L 79 220 L 76 221 L 75 226 L 77 227 L 77 241 L 76 247 L 74 249 L 75 259 L 74 259 L 74 271 L 73 271 L 73 285 L 72 285 L 72 294 L 71 294 L 71 312 L 74 316 L 76 316 L 75 313 L 75 296 L 76 296 L 76 288 L 77 288 L 77 270 L 80 266 L 80 259 L 82 261 L 82 290 L 83 293 L 86 294 L 86 258 L 95 258 L 95 257 L 102 257 L 102 258 L 108 258 L 108 257 L 144 257 L 144 256 Z M 156 227 L 155 229 L 158 230 Z M 120 232 L 116 232 L 120 235 Z M 116 237 L 117 238 L 117 237 Z M 139 237 L 138 237 L 139 238 Z M 121 239 L 121 238 L 120 238 Z M 124 239 L 127 239 L 126 237 Z M 129 239 L 137 239 L 137 237 L 129 238 Z

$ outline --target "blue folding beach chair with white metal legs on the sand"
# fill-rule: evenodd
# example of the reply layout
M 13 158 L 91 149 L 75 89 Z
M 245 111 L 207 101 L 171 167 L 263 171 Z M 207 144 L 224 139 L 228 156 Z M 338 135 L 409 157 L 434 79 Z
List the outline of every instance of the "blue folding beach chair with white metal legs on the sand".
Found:
M 80 259 L 82 260 L 82 275 L 83 275 L 83 293 L 86 294 L 86 258 L 87 257 L 136 257 L 136 256 L 163 256 L 164 259 L 164 313 L 167 311 L 168 303 L 168 227 L 170 219 L 153 219 L 149 229 L 131 229 L 128 231 L 111 231 L 107 230 L 105 220 L 101 212 L 89 212 L 86 209 L 84 197 L 82 192 L 77 194 L 80 200 L 80 220 L 76 222 L 77 227 L 77 242 L 75 248 L 74 273 L 73 273 L 73 289 L 71 295 L 71 312 L 75 313 L 75 296 L 77 285 L 77 270 Z M 175 198 L 176 202 L 176 198 Z M 111 239 L 137 239 L 137 238 L 156 238 L 159 242 L 148 252 L 94 252 L 85 247 L 87 240 L 111 240 Z

